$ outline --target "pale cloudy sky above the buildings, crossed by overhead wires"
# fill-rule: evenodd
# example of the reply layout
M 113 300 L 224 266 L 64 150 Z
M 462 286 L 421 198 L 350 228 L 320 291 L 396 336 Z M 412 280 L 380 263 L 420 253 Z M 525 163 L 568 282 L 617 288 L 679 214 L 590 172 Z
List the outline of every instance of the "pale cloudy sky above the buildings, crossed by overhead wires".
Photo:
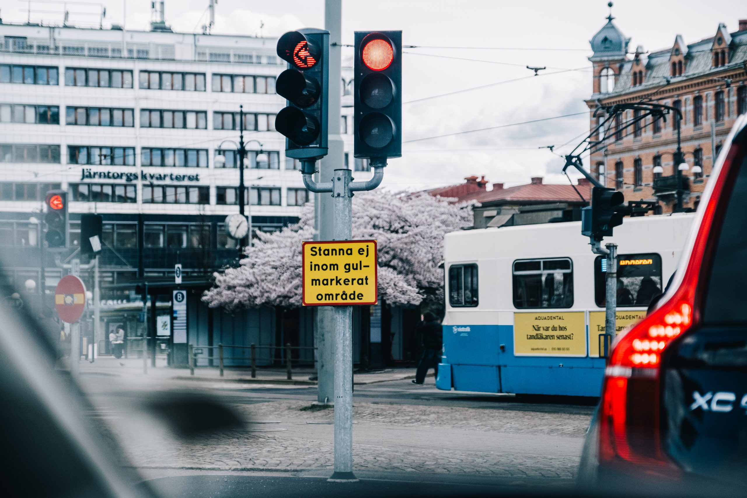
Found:
M 105 24 L 123 21 L 123 0 L 99 1 L 107 10 Z M 3 3 L 3 19 L 25 21 L 25 1 Z M 718 8 L 695 0 L 677 4 L 673 9 L 672 1 L 616 1 L 615 22 L 632 38 L 630 49 L 663 49 L 675 34 L 692 43 L 713 36 L 719 22 L 736 31 L 737 19 L 747 18 L 743 0 L 720 0 Z M 32 1 L 31 19 L 59 22 L 61 14 L 35 10 L 62 10 L 61 5 Z M 199 32 L 207 5 L 208 0 L 167 0 L 167 22 L 175 31 Z M 323 0 L 220 0 L 214 33 L 278 36 L 323 28 L 323 7 Z M 84 15 L 96 12 L 95 5 L 68 8 L 78 12 L 70 14 L 71 23 L 98 25 L 96 16 Z M 401 29 L 403 43 L 419 47 L 404 55 L 403 158 L 390 161 L 385 186 L 435 187 L 460 183 L 467 175 L 507 184 L 538 175 L 546 182 L 567 181 L 560 174 L 562 159 L 539 147 L 574 139 L 556 149 L 568 152 L 587 131 L 584 114 L 495 127 L 586 111 L 583 99 L 592 87 L 589 40 L 608 13 L 602 0 L 344 0 L 344 43 L 353 43 L 356 30 Z M 149 21 L 150 1 L 126 1 L 127 28 L 146 29 Z M 533 77 L 527 65 L 548 69 Z M 469 90 L 474 87 L 483 88 Z M 491 129 L 456 134 L 481 128 Z M 419 140 L 444 134 L 450 135 Z

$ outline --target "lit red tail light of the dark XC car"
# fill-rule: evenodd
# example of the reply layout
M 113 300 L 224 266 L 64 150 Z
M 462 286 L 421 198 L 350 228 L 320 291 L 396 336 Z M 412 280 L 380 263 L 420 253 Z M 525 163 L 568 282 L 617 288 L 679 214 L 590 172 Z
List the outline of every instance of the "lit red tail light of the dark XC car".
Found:
M 698 211 L 695 227 L 683 258 L 687 261 L 681 278 L 672 282 L 675 292 L 669 299 L 621 334 L 605 371 L 599 420 L 599 460 L 616 470 L 630 466 L 634 473 L 655 473 L 676 478 L 678 467 L 662 451 L 660 434 L 661 358 L 673 340 L 697 326 L 699 314 L 698 279 L 707 273 L 716 239 L 719 218 L 728 205 L 731 177 L 739 167 L 731 168 L 740 154 L 734 144 L 704 195 L 704 209 Z M 729 186 L 728 190 L 725 190 Z M 722 206 L 724 208 L 722 208 Z M 717 209 L 718 208 L 718 209 Z M 713 234 L 711 232 L 714 232 Z

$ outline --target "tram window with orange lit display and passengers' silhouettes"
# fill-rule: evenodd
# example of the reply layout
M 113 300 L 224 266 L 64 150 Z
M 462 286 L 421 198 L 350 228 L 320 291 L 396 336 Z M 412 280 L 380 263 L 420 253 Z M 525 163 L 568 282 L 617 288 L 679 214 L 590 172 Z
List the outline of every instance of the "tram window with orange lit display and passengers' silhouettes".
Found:
M 604 308 L 607 303 L 607 258 L 594 260 L 594 300 Z M 661 293 L 661 256 L 655 252 L 623 254 L 617 257 L 617 305 L 648 306 Z

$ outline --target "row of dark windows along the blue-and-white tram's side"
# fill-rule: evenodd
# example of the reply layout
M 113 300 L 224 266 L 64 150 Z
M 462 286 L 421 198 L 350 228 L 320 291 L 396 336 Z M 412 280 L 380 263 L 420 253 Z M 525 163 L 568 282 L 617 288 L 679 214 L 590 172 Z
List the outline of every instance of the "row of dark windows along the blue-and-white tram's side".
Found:
M 449 267 L 449 304 L 454 308 L 474 307 L 478 295 L 477 264 Z M 605 305 L 607 260 L 594 261 L 594 300 Z M 573 262 L 571 258 L 517 260 L 512 267 L 513 305 L 526 308 L 571 308 L 573 306 Z M 617 305 L 645 307 L 662 291 L 661 256 L 628 254 L 618 256 Z

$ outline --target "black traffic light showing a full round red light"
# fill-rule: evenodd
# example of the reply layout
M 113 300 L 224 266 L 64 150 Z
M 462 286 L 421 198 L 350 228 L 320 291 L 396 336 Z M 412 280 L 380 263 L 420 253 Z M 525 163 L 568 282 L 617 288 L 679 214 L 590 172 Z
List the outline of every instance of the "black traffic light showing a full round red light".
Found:
M 356 31 L 355 157 L 402 157 L 402 31 Z

